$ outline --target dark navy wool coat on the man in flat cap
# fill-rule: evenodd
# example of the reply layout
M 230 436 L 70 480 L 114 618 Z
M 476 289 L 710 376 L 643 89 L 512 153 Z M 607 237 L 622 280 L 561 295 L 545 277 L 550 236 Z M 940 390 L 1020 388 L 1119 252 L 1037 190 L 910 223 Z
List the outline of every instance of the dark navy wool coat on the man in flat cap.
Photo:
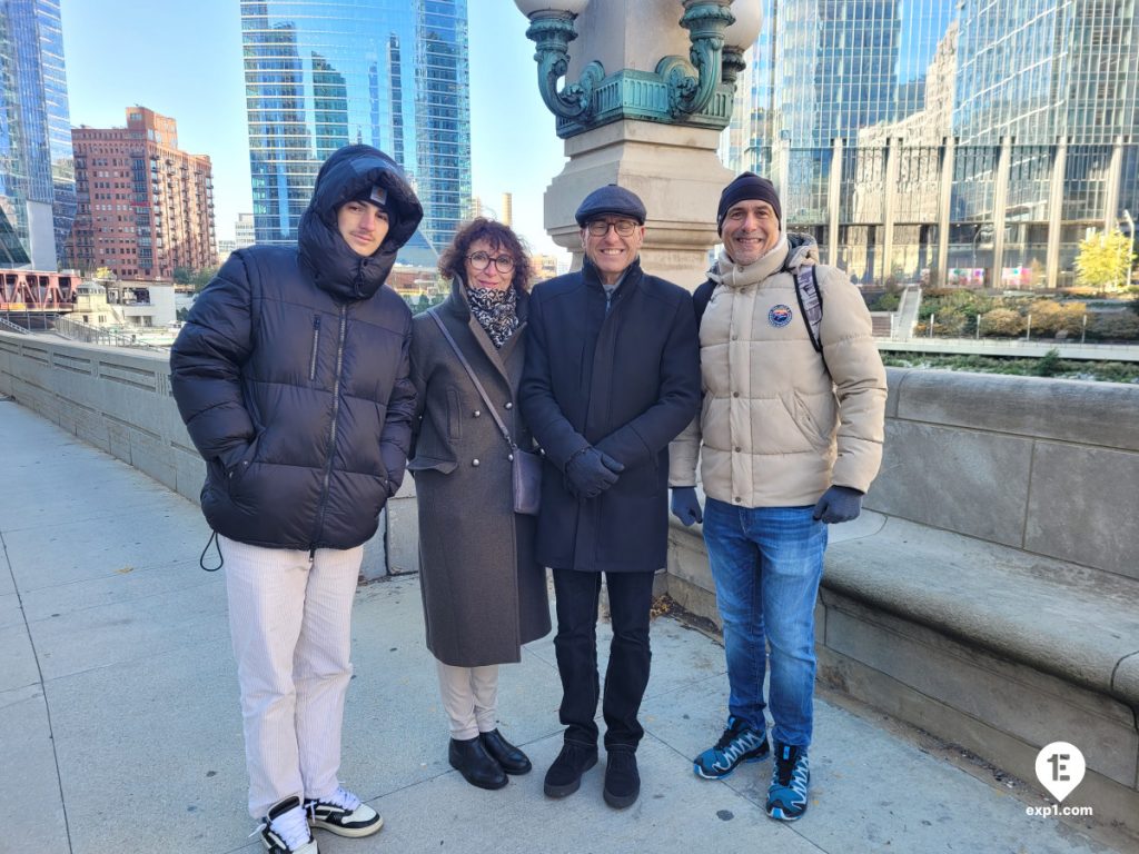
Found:
M 653 572 L 667 552 L 669 442 L 699 412 L 691 295 L 625 272 L 606 313 L 597 269 L 534 288 L 519 400 L 542 450 L 536 557 L 587 572 Z M 593 445 L 625 469 L 591 500 L 567 488 L 566 462 Z

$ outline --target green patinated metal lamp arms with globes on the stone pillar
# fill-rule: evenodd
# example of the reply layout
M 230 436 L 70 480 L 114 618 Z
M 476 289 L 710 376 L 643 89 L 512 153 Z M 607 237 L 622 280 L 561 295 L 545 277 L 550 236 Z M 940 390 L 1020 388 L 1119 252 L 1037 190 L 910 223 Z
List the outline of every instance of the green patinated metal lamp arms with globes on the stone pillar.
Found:
M 736 77 L 744 51 L 760 32 L 761 10 L 754 0 L 681 0 L 679 24 L 688 31 L 688 57 L 662 57 L 653 72 L 622 68 L 606 74 L 592 60 L 576 82 L 558 90 L 570 67 L 570 42 L 576 19 L 590 0 L 515 0 L 530 19 L 526 38 L 534 42 L 538 89 L 557 116 L 563 139 L 622 118 L 689 124 L 722 130 L 731 117 Z

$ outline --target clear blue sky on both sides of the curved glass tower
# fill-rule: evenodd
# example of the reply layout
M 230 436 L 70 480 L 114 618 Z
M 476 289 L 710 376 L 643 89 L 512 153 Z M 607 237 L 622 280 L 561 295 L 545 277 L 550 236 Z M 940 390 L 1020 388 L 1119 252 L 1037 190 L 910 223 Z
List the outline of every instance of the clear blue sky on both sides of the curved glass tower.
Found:
M 251 211 L 238 0 L 60 0 L 72 124 L 123 126 L 140 104 L 178 121 L 179 147 L 213 161 L 220 238 Z M 476 196 L 498 210 L 514 194 L 514 224 L 535 252 L 542 194 L 565 163 L 554 116 L 538 93 L 534 44 L 510 0 L 468 0 L 470 137 Z

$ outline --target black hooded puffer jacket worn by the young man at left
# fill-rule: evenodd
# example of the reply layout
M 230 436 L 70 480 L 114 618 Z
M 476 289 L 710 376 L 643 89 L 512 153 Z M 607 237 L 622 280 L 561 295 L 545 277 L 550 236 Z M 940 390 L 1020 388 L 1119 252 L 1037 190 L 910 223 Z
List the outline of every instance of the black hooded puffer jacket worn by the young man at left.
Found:
M 390 231 L 371 257 L 336 211 L 387 190 Z M 280 549 L 366 542 L 403 479 L 415 412 L 411 313 L 384 288 L 423 219 L 399 166 L 370 146 L 331 155 L 298 248 L 230 255 L 174 343 L 171 385 L 206 461 L 202 510 L 218 533 Z

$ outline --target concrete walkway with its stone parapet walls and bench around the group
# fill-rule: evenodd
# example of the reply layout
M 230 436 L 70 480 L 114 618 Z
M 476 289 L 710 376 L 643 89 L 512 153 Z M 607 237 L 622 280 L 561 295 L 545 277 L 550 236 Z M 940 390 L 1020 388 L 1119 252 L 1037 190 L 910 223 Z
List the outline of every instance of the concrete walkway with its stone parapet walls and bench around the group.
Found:
M 446 764 L 423 647 L 408 484 L 368 548 L 367 575 L 383 582 L 358 594 L 345 749 L 346 782 L 387 828 L 322 847 L 1133 851 L 1139 388 L 888 379 L 883 473 L 863 517 L 833 528 L 803 821 L 763 816 L 767 765 L 727 783 L 690 773 L 726 715 L 722 651 L 667 616 L 653 630 L 645 787 L 630 813 L 605 807 L 599 773 L 565 804 L 541 796 L 560 729 L 549 638 L 503 675 L 503 729 L 538 773 L 502 793 L 466 786 Z M 14 849 L 151 851 L 173 834 L 254 851 L 241 848 L 252 826 L 223 585 L 197 568 L 208 532 L 185 500 L 203 469 L 163 356 L 0 331 L 0 631 L 13 650 L 0 815 Z M 671 539 L 661 589 L 714 621 L 698 533 L 674 526 Z M 1033 765 L 1058 740 L 1088 763 L 1064 806 L 1091 816 L 1026 815 L 1052 803 Z M 28 799 L 36 810 L 16 808 Z

